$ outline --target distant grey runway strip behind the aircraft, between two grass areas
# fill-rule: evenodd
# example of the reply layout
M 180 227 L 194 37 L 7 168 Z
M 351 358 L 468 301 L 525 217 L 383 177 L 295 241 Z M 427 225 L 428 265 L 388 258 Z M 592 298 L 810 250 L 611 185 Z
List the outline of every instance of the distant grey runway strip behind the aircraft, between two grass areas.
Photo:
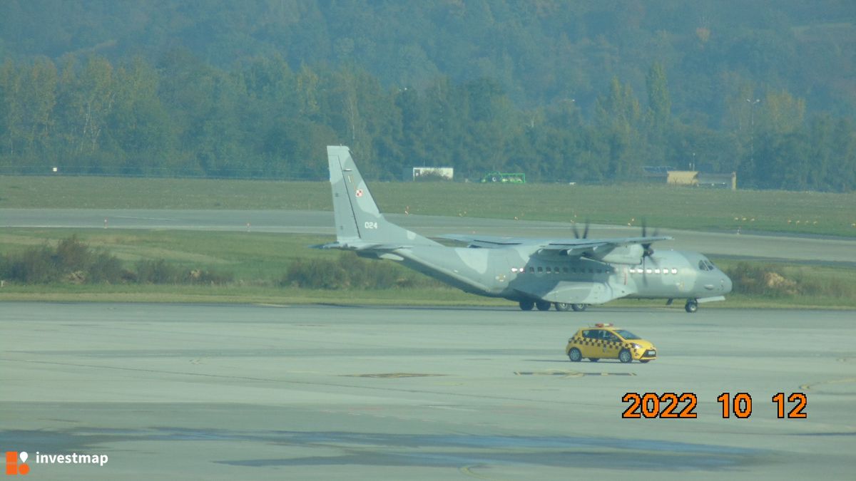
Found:
M 569 223 L 474 217 L 404 216 L 391 222 L 422 235 L 480 234 L 538 238 L 573 237 Z M 78 209 L 0 209 L 0 227 L 74 229 L 196 229 L 333 235 L 333 213 L 325 211 L 151 211 Z M 711 256 L 781 259 L 856 266 L 856 239 L 786 235 L 747 235 L 660 229 L 675 241 L 659 249 L 691 250 Z M 591 238 L 638 236 L 639 228 L 592 225 Z

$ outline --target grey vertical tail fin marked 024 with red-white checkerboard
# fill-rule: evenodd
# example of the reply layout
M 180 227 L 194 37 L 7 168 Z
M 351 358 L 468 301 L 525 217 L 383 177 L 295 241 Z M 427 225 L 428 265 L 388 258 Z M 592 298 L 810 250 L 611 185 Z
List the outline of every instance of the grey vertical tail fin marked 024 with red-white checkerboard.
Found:
M 330 163 L 337 247 L 439 245 L 383 217 L 347 146 L 328 145 L 327 160 Z

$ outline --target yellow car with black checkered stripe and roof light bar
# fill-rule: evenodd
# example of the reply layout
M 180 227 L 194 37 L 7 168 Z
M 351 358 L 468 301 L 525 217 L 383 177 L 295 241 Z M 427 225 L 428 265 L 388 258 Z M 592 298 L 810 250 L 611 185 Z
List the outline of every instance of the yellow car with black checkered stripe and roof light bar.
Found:
M 583 358 L 592 362 L 600 359 L 618 359 L 621 362 L 657 359 L 657 347 L 650 341 L 612 324 L 595 324 L 594 327 L 578 330 L 574 337 L 568 339 L 565 353 L 574 362 Z

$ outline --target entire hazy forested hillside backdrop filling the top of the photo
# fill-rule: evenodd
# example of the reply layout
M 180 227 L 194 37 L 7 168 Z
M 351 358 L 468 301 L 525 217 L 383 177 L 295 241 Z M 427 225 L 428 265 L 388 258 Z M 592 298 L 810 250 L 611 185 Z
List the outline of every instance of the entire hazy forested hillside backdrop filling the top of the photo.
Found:
M 693 163 L 852 191 L 854 20 L 847 0 L 9 0 L 0 172 L 323 179 L 346 144 L 370 178 Z

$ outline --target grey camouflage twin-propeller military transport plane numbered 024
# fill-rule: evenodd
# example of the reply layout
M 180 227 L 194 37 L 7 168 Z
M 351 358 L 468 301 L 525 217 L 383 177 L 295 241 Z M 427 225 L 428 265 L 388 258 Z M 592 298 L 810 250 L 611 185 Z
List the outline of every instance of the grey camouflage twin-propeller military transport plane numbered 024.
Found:
M 528 239 L 446 235 L 467 247 L 443 246 L 387 221 L 377 210 L 347 146 L 327 147 L 336 242 L 317 246 L 389 259 L 455 288 L 516 301 L 520 309 L 583 311 L 619 298 L 724 300 L 731 280 L 698 252 L 657 251 L 668 236 L 588 239 L 588 226 L 574 239 Z

